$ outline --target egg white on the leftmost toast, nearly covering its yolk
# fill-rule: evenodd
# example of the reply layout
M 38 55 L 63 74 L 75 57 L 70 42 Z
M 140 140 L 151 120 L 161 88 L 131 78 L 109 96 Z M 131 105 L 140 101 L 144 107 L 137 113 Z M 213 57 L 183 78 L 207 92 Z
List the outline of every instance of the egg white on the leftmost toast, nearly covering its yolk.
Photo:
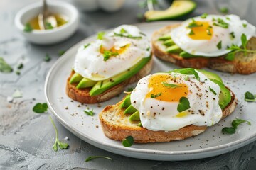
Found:
M 114 34 L 119 34 L 122 30 L 125 30 L 125 33 L 122 33 L 122 35 L 140 38 L 127 38 Z M 112 47 L 119 50 L 125 45 L 129 47 L 124 52 L 104 61 L 103 54 L 100 53 L 101 46 L 105 50 L 110 50 Z M 95 81 L 109 79 L 131 68 L 144 57 L 149 57 L 150 51 L 149 40 L 146 38 L 146 35 L 141 33 L 139 28 L 122 25 L 105 35 L 102 40 L 95 40 L 86 48 L 82 45 L 75 56 L 73 69 L 82 77 Z

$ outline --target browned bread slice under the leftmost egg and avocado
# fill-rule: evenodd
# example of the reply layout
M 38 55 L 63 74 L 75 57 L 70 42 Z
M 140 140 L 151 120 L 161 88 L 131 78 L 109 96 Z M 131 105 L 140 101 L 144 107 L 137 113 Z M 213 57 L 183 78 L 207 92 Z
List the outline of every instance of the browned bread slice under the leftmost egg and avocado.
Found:
M 122 81 L 122 83 L 117 84 L 116 86 L 113 86 L 107 91 L 104 91 L 102 94 L 96 96 L 90 96 L 89 92 L 92 88 L 77 89 L 75 86 L 77 86 L 78 84 L 69 83 L 70 78 L 75 73 L 74 71 L 72 71 L 66 83 L 66 94 L 68 94 L 68 96 L 72 98 L 74 101 L 79 101 L 80 103 L 100 103 L 102 101 L 107 101 L 110 98 L 113 98 L 118 94 L 121 94 L 128 84 L 132 84 L 141 79 L 142 77 L 145 77 L 147 74 L 149 74 L 152 65 L 153 57 L 151 57 L 151 60 L 149 60 L 149 62 L 146 63 L 146 65 L 141 70 L 139 70 L 139 72 L 137 72 L 137 74 L 135 74 L 133 77 L 125 81 Z

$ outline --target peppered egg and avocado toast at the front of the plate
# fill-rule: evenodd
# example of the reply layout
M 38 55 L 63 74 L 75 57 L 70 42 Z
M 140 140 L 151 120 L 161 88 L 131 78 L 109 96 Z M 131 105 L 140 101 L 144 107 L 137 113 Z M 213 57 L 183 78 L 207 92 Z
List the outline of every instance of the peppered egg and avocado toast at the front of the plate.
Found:
M 198 135 L 233 113 L 235 94 L 220 77 L 199 69 L 150 74 L 116 105 L 100 113 L 105 135 L 113 140 L 169 142 Z

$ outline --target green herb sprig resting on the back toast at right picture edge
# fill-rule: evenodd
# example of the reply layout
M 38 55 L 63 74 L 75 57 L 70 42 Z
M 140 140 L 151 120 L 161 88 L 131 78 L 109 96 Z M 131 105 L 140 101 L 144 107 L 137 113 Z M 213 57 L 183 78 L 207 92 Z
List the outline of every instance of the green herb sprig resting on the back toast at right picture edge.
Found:
M 237 52 L 245 52 L 245 55 L 247 55 L 247 52 L 253 52 L 255 53 L 256 50 L 247 50 L 247 38 L 245 34 L 242 34 L 241 36 L 241 42 L 242 42 L 242 48 L 238 47 L 238 45 L 231 45 L 231 47 L 228 47 L 227 50 L 231 50 L 231 52 L 228 53 L 228 55 L 225 57 L 225 60 L 234 60 L 235 59 L 235 53 Z

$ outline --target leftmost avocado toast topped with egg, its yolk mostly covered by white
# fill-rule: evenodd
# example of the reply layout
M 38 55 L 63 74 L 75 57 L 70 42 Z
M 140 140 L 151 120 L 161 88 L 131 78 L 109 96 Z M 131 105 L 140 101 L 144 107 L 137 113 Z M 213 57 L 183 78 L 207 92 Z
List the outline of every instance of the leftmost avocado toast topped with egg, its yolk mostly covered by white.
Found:
M 123 25 L 78 49 L 66 94 L 81 103 L 99 103 L 122 93 L 149 74 L 151 47 L 146 35 L 135 26 Z

